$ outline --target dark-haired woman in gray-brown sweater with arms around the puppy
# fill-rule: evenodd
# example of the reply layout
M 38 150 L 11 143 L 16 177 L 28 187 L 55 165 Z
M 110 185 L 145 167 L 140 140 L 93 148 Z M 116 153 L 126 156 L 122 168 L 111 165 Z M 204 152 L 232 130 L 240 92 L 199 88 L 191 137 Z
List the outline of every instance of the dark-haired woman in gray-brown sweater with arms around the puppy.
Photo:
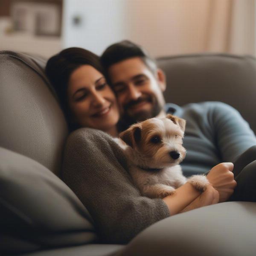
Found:
M 201 193 L 186 183 L 175 196 L 142 197 L 131 182 L 122 151 L 109 136 L 118 136 L 119 112 L 99 57 L 81 48 L 64 49 L 49 59 L 46 73 L 70 129 L 83 128 L 67 140 L 63 180 L 92 214 L 103 242 L 127 243 L 156 221 L 220 199 L 226 201 L 233 193 L 233 164 L 224 163 L 207 175 L 218 191 L 209 185 Z

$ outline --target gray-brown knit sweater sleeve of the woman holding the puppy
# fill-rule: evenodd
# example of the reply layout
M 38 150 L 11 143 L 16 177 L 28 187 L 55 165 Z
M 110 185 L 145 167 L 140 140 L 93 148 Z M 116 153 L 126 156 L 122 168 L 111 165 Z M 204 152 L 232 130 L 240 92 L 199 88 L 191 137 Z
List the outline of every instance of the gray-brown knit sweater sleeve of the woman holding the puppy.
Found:
M 89 210 L 104 243 L 125 244 L 169 216 L 162 199 L 140 195 L 124 154 L 102 131 L 82 128 L 70 134 L 62 177 Z

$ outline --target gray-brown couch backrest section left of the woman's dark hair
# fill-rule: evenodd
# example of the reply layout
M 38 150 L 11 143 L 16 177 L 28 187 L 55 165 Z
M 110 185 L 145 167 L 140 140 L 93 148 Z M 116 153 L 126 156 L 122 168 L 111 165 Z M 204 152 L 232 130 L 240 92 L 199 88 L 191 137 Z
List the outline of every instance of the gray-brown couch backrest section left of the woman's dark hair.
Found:
M 40 57 L 0 51 L 0 146 L 58 174 L 67 123 L 45 64 Z

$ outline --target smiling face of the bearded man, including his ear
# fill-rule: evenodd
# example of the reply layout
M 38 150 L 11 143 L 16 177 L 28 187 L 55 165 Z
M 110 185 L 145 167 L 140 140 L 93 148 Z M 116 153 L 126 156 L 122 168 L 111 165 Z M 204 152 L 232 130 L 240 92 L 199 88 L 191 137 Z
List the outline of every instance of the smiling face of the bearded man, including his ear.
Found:
M 126 121 L 143 121 L 163 111 L 166 84 L 161 70 L 154 75 L 140 57 L 134 57 L 113 64 L 108 75 Z

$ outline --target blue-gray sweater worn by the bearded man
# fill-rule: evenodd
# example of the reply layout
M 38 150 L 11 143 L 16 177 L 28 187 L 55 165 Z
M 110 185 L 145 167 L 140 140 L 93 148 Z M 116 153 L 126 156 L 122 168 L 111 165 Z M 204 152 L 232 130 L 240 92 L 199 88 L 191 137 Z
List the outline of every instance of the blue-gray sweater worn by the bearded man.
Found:
M 181 163 L 186 176 L 208 172 L 221 162 L 233 162 L 256 137 L 240 113 L 222 102 L 192 103 L 179 107 L 166 104 L 166 112 L 186 120 Z

